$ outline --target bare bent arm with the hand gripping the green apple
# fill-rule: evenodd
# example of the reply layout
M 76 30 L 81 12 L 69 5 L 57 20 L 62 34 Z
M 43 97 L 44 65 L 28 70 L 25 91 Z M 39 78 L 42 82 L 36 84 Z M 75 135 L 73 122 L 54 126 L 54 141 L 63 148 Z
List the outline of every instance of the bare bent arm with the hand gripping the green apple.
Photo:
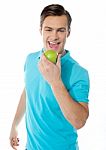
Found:
M 39 62 L 39 69 L 44 78 L 51 85 L 65 118 L 77 129 L 84 126 L 89 115 L 88 104 L 75 102 L 69 95 L 61 80 L 60 56 L 58 57 L 56 65 L 54 65 L 43 55 Z

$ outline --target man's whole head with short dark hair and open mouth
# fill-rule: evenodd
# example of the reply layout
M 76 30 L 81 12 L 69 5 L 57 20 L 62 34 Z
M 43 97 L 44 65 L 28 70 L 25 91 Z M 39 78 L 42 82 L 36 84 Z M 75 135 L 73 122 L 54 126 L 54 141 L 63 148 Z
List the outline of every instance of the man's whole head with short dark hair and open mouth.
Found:
M 67 10 L 59 4 L 46 6 L 40 16 L 40 31 L 45 49 L 54 49 L 61 53 L 66 38 L 70 34 L 72 18 Z

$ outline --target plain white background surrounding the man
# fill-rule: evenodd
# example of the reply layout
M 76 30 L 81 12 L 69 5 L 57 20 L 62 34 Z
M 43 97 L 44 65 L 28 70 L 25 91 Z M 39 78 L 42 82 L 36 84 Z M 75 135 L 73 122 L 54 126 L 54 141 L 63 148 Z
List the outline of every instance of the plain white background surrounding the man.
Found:
M 39 16 L 43 7 L 51 3 L 64 5 L 72 15 L 66 48 L 90 75 L 90 116 L 78 131 L 80 150 L 106 150 L 105 0 L 0 1 L 0 150 L 11 150 L 9 133 L 24 87 L 25 58 L 42 48 Z M 19 126 L 19 137 L 18 150 L 24 150 L 24 119 Z

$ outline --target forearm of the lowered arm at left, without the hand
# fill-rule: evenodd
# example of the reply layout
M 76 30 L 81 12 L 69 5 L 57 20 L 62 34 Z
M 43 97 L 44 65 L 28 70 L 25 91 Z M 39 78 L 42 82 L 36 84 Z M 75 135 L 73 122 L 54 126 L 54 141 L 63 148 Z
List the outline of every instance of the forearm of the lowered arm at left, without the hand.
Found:
M 25 113 L 25 108 L 26 108 L 26 95 L 25 95 L 25 90 L 23 90 L 20 101 L 16 110 L 16 114 L 12 123 L 13 127 L 17 127 L 24 116 Z

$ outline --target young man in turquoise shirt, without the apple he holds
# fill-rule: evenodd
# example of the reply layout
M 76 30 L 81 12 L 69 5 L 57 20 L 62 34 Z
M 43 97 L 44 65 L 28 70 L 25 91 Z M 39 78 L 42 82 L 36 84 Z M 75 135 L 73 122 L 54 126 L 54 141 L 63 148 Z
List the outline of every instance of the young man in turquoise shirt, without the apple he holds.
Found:
M 16 149 L 17 126 L 26 117 L 27 150 L 78 150 L 77 129 L 89 115 L 89 77 L 64 49 L 70 35 L 71 16 L 63 6 L 45 7 L 40 18 L 42 51 L 28 55 L 25 63 L 25 89 L 20 98 L 10 133 Z M 44 51 L 58 52 L 53 64 Z

